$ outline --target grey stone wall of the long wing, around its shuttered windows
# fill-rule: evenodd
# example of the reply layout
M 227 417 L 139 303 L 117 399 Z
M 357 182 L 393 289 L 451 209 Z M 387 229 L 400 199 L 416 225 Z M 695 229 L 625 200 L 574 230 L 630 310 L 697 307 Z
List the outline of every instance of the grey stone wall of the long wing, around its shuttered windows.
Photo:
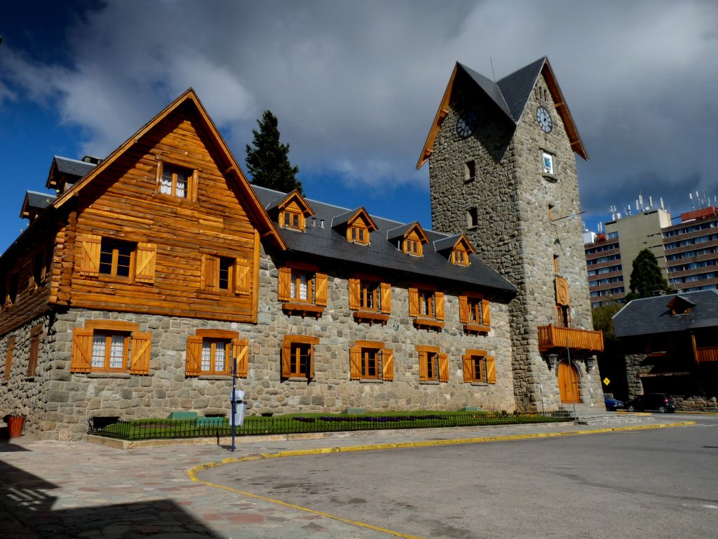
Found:
M 15 372 L 3 388 L 11 392 L 19 412 L 27 415 L 29 431 L 43 438 L 78 439 L 93 416 L 123 419 L 167 417 L 174 410 L 195 410 L 200 415 L 228 414 L 231 377 L 185 377 L 187 336 L 198 328 L 238 331 L 250 343 L 248 378 L 238 380 L 246 391 L 248 413 L 299 411 L 340 412 L 347 407 L 365 410 L 457 410 L 477 406 L 485 410 L 514 409 L 508 307 L 492 303 L 488 336 L 467 335 L 459 321 L 457 295 L 447 289 L 445 327 L 442 331 L 414 328 L 409 318 L 409 282 L 393 282 L 391 319 L 386 326 L 356 323 L 348 305 L 350 274 L 330 275 L 328 305 L 318 320 L 286 315 L 277 298 L 277 270 L 263 254 L 260 269 L 258 323 L 238 324 L 70 309 L 57 313 L 50 335 L 44 339 L 37 375 L 22 380 Z M 139 324 L 152 334 L 149 375 L 70 372 L 73 330 L 88 320 L 123 320 Z M 17 330 L 28 333 L 28 324 Z M 285 335 L 319 338 L 314 347 L 314 379 L 295 382 L 281 378 L 281 343 Z M 17 339 L 18 343 L 25 338 Z M 349 379 L 349 348 L 355 340 L 382 341 L 394 353 L 393 382 Z M 4 341 L 3 341 L 4 342 Z M 449 356 L 449 382 L 420 382 L 415 346 L 439 346 Z M 1 346 L 1 344 L 0 344 Z M 16 346 L 17 369 L 23 352 Z M 465 383 L 462 355 L 482 349 L 496 358 L 496 384 Z M 1 352 L 1 349 L 0 349 Z M 17 374 L 17 375 L 16 375 Z M 22 384 L 22 387 L 21 387 Z M 22 389 L 22 390 L 21 390 Z M 39 405 L 33 409 L 33 402 Z M 45 413 L 39 410 L 45 409 Z

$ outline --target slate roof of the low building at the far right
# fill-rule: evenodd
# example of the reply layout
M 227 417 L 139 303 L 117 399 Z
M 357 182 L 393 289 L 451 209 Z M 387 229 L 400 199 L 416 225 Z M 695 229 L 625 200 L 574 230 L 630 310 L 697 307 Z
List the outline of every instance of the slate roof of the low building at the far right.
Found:
M 668 303 L 680 297 L 694 303 L 690 313 L 672 315 Z M 613 315 L 617 337 L 673 333 L 718 327 L 718 290 L 699 290 L 633 300 Z

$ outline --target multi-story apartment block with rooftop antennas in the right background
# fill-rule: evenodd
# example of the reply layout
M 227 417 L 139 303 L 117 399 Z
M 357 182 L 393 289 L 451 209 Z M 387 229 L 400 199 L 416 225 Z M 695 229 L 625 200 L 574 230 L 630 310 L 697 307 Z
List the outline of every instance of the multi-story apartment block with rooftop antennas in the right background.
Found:
M 651 209 L 608 221 L 605 233 L 584 244 L 592 307 L 625 303 L 633 260 L 650 249 L 675 290 L 693 292 L 718 287 L 718 209 L 714 206 L 671 214 Z

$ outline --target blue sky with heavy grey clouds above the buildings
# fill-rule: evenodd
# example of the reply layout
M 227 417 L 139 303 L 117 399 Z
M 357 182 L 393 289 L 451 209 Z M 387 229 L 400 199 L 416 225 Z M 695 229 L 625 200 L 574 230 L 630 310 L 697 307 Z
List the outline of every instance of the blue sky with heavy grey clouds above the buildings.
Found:
M 415 165 L 457 60 L 501 78 L 548 55 L 590 156 L 590 229 L 638 195 L 677 216 L 718 194 L 714 1 L 5 4 L 1 250 L 52 155 L 108 155 L 189 86 L 241 164 L 269 109 L 309 198 L 430 226 Z

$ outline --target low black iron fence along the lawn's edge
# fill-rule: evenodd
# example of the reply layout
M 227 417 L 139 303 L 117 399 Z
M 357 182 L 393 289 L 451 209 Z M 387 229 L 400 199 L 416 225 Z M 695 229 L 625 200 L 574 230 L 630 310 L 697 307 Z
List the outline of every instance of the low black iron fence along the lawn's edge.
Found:
M 379 430 L 401 428 L 470 427 L 478 425 L 516 425 L 521 423 L 551 423 L 571 420 L 568 413 L 535 414 L 505 413 L 436 413 L 396 415 L 292 415 L 245 418 L 236 427 L 236 436 L 269 434 L 324 433 L 348 430 Z M 228 418 L 195 418 L 185 420 L 142 419 L 123 421 L 115 418 L 90 418 L 88 434 L 121 440 L 149 440 L 154 438 L 201 438 L 231 436 Z

